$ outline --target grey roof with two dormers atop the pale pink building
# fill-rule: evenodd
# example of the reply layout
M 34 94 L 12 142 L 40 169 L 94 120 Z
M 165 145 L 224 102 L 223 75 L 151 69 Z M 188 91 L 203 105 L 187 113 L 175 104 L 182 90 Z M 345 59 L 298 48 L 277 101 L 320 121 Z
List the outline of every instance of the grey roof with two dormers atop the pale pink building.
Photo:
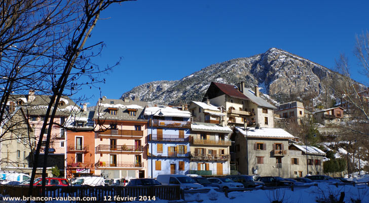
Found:
M 114 103 L 114 104 L 112 104 Z M 100 98 L 97 105 L 93 119 L 106 119 L 106 120 L 144 120 L 143 110 L 146 107 L 146 101 L 129 100 L 124 101 L 122 99 L 108 99 Z M 109 108 L 116 108 L 117 115 L 110 115 Z M 131 116 L 128 109 L 135 109 L 136 115 Z

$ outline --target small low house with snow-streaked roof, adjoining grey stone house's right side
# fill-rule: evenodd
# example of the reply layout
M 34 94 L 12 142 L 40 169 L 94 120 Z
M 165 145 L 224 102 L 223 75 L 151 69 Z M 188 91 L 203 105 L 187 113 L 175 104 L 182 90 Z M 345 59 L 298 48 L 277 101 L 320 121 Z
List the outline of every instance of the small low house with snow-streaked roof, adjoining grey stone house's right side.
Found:
M 323 175 L 325 153 L 322 150 L 309 145 L 291 144 L 288 146 L 288 154 L 291 159 L 289 177 L 305 177 L 307 174 Z

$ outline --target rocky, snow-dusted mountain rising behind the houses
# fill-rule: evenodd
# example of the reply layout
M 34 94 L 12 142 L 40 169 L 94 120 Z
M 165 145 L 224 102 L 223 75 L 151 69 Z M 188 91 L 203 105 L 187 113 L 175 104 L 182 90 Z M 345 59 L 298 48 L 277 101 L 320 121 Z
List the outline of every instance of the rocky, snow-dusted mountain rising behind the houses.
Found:
M 237 84 L 245 81 L 246 87 L 259 85 L 261 91 L 272 97 L 278 95 L 325 95 L 325 89 L 332 81 L 342 76 L 324 66 L 291 54 L 271 48 L 267 52 L 247 58 L 236 58 L 216 63 L 176 81 L 154 81 L 134 87 L 124 97 L 158 104 L 177 105 L 191 100 L 201 100 L 210 82 Z M 333 80 L 334 79 L 334 80 Z M 329 88 L 327 93 L 330 94 Z M 280 96 L 279 102 L 284 102 Z

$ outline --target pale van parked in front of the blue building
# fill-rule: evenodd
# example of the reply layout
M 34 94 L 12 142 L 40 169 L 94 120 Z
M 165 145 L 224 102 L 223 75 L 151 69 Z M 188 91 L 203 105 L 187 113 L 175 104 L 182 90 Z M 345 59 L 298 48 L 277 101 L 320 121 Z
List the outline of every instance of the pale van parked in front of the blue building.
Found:
M 194 179 L 185 175 L 159 174 L 156 180 L 162 185 L 179 185 L 180 188 L 184 190 L 204 187 L 196 183 Z

